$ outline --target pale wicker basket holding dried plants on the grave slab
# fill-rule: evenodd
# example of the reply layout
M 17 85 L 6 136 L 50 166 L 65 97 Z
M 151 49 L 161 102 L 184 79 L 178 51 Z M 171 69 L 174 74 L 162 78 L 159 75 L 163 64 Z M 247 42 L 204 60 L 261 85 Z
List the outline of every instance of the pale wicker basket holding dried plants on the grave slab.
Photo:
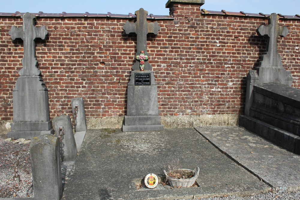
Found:
M 192 178 L 187 179 L 176 179 L 168 176 L 167 172 L 164 170 L 164 174 L 167 177 L 167 181 L 169 181 L 171 187 L 191 187 L 195 183 L 196 179 L 199 175 L 199 167 L 196 167 L 194 170 L 190 169 L 180 169 L 182 171 L 193 172 L 194 176 Z

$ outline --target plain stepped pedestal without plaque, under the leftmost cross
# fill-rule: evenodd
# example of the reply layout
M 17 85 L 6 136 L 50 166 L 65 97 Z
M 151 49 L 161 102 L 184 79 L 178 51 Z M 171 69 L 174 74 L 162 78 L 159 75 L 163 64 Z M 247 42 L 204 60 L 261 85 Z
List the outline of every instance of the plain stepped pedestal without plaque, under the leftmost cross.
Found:
M 40 76 L 20 76 L 13 89 L 12 139 L 54 134 L 49 117 L 48 91 Z

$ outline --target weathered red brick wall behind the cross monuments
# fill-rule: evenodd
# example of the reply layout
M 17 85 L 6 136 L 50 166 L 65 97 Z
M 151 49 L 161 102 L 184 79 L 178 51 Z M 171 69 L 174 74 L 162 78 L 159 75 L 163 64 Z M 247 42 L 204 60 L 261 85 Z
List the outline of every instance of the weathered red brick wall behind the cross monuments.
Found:
M 266 40 L 257 34 L 267 19 L 201 15 L 199 5 L 174 4 L 174 20 L 158 20 L 149 34 L 149 63 L 158 83 L 160 115 L 228 115 L 243 112 L 245 77 L 258 65 Z M 39 69 L 49 91 L 50 118 L 71 113 L 71 98 L 83 97 L 87 118 L 123 117 L 127 83 L 136 53 L 136 35 L 122 26 L 128 19 L 38 18 L 49 35 L 36 41 Z M 129 19 L 134 22 L 133 19 Z M 149 21 L 151 22 L 151 21 Z M 0 120 L 12 120 L 12 91 L 22 67 L 23 41 L 11 26 L 20 17 L 0 17 Z M 283 66 L 300 88 L 300 21 L 280 19 L 287 37 L 278 39 Z

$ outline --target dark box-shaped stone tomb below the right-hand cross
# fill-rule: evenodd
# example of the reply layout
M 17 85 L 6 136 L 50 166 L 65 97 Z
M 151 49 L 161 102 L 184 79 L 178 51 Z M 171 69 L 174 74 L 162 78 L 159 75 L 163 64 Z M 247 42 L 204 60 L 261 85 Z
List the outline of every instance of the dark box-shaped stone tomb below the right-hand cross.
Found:
M 279 84 L 255 85 L 252 97 L 240 126 L 299 154 L 300 90 Z

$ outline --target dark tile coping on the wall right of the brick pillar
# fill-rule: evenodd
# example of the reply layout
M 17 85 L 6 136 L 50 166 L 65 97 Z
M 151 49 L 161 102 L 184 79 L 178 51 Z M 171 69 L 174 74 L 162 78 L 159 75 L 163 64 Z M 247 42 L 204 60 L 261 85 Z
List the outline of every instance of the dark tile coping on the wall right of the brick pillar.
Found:
M 241 12 L 227 12 L 225 10 L 221 11 L 211 11 L 211 10 L 205 10 L 201 9 L 201 14 L 204 15 L 225 15 L 225 16 L 246 16 L 246 17 L 268 17 L 269 14 L 263 14 L 263 13 L 244 13 L 243 11 Z M 282 15 L 282 14 L 277 14 L 279 18 L 281 19 L 300 19 L 300 15 Z

